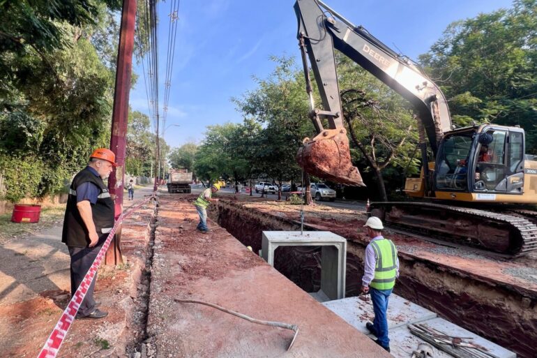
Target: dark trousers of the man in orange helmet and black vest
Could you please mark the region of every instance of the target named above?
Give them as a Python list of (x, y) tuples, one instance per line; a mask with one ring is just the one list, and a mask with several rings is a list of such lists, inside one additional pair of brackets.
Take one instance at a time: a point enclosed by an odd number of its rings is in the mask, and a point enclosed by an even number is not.
[[(73, 297), (73, 294), (75, 294), (77, 291), (78, 286), (80, 286), (80, 283), (82, 283), (84, 276), (86, 276), (91, 264), (93, 263), (93, 260), (95, 260), (97, 257), (97, 254), (102, 246), (103, 245), (100, 244), (93, 247), (68, 247), (71, 258), (71, 297)], [(93, 277), (93, 281), (91, 281), (91, 285), (89, 285), (86, 297), (84, 297), (84, 301), (82, 301), (82, 304), (80, 304), (77, 314), (78, 316), (89, 315), (95, 311), (93, 289), (95, 288), (96, 280), (97, 275)]]

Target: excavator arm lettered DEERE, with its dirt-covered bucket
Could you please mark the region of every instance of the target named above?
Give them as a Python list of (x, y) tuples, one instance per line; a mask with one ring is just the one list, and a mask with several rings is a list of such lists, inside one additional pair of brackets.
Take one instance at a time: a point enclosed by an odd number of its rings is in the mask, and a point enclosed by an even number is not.
[[(414, 105), (436, 156), (442, 135), (452, 129), (446, 98), (439, 87), (409, 59), (393, 52), (363, 27), (355, 27), (322, 1), (297, 0), (294, 10), (306, 91), (310, 98), (310, 119), (317, 130), (317, 136), (312, 140), (306, 138), (298, 151), (298, 163), (318, 177), (342, 184), (363, 185), (358, 170), (350, 161), (334, 49)], [(308, 59), (322, 99), (322, 109), (316, 108), (313, 100)], [(322, 125), (325, 118), (328, 121), (326, 129)]]

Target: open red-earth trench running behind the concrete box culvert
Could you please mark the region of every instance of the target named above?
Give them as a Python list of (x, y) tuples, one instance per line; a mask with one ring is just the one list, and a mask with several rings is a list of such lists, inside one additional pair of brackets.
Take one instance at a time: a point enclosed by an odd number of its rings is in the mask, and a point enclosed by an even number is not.
[[(256, 211), (237, 202), (222, 201), (209, 216), (257, 253), (262, 231), (300, 230), (300, 224), (284, 216)], [(305, 225), (305, 230), (317, 230)], [(336, 232), (337, 234), (338, 232)], [(356, 296), (363, 276), (365, 244), (347, 239), (346, 297)], [(436, 312), (446, 320), (473, 331), (520, 357), (537, 357), (537, 292), (516, 285), (488, 281), (464, 269), (448, 269), (434, 262), (399, 254), (400, 278), (394, 292)], [(300, 288), (320, 287), (319, 248), (277, 249), (274, 266)]]

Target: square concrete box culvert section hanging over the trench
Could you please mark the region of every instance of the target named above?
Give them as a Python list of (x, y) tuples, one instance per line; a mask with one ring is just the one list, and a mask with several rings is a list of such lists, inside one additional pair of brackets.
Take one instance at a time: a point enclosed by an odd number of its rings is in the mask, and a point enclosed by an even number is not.
[[(279, 246), (322, 246), (320, 291), (328, 299), (345, 297), (347, 239), (329, 231), (264, 231), (262, 258), (271, 266)], [(316, 299), (321, 297), (318, 295)]]

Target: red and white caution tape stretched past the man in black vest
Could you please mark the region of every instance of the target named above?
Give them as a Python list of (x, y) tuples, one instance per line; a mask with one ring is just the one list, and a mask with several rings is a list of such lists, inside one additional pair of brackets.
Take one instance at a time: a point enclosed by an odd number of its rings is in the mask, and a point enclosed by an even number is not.
[(60, 350), (61, 343), (63, 343), (63, 340), (67, 336), (67, 331), (69, 330), (71, 325), (73, 325), (73, 321), (75, 320), (75, 316), (77, 315), (78, 308), (80, 308), (80, 304), (82, 304), (84, 297), (86, 297), (86, 292), (88, 292), (89, 285), (91, 285), (91, 281), (93, 281), (93, 277), (95, 277), (97, 273), (97, 269), (99, 268), (100, 262), (103, 261), (108, 246), (110, 246), (110, 242), (112, 242), (112, 238), (114, 237), (116, 228), (123, 221), (124, 218), (126, 218), (130, 214), (133, 214), (134, 211), (139, 209), (139, 207), (142, 207), (143, 204), (151, 200), (151, 198), (153, 197), (155, 197), (154, 193), (150, 197), (147, 197), (146, 200), (144, 200), (137, 206), (128, 210), (126, 213), (121, 214), (121, 216), (119, 216), (119, 218), (116, 220), (116, 222), (114, 223), (114, 228), (112, 228), (112, 231), (110, 231), (108, 237), (106, 238), (105, 244), (103, 244), (103, 247), (100, 248), (96, 259), (93, 261), (93, 264), (91, 264), (91, 267), (89, 268), (86, 276), (84, 276), (82, 283), (80, 283), (80, 286), (78, 286), (77, 291), (75, 292), (75, 294), (73, 294), (73, 298), (71, 298), (65, 311), (63, 311), (63, 313), (61, 314), (60, 319), (56, 323), (56, 327), (54, 327), (52, 333), (47, 339), (47, 342), (45, 343), (45, 345), (43, 345), (41, 352), (39, 352), (38, 358), (56, 357)]

